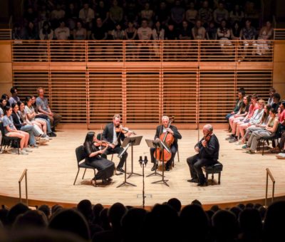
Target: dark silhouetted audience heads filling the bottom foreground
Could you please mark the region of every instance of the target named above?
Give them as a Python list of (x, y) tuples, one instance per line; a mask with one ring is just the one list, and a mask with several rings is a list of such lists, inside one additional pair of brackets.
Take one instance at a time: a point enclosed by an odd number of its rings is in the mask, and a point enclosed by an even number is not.
[(214, 205), (204, 211), (198, 200), (182, 208), (178, 199), (155, 204), (151, 211), (117, 202), (104, 208), (82, 200), (76, 208), (24, 204), (0, 209), (1, 241), (282, 241), (285, 201)]

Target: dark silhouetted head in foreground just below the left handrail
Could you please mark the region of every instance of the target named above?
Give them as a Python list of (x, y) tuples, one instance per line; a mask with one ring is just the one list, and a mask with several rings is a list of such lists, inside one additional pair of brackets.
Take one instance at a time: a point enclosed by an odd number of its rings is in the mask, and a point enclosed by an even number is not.
[(48, 219), (46, 218), (46, 214), (43, 214), (42, 211), (30, 210), (26, 211), (25, 214), (17, 216), (13, 224), (13, 230), (17, 231), (31, 227), (46, 228), (47, 226)]

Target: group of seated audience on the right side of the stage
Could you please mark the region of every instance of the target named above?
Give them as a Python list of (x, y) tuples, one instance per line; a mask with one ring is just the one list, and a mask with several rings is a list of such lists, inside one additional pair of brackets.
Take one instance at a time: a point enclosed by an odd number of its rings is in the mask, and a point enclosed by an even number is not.
[(269, 90), (267, 102), (259, 99), (256, 93), (246, 95), (244, 88), (241, 88), (234, 110), (226, 116), (231, 132), (226, 140), (242, 144), (242, 149), (254, 154), (260, 138), (274, 136), (279, 132), (279, 145), (269, 151), (281, 152), (277, 157), (285, 159), (285, 100), (280, 102), (280, 99), (274, 88)]

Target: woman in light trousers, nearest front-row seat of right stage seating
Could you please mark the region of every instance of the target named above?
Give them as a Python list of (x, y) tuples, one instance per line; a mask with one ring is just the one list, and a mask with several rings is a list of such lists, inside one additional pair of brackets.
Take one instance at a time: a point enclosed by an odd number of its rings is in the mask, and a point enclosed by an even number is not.
[[(279, 125), (278, 118), (276, 117), (276, 110), (271, 108), (269, 111), (270, 119), (265, 127), (265, 130), (257, 130), (252, 132), (252, 135), (249, 137), (249, 141), (247, 142), (247, 147), (249, 150), (247, 151), (248, 154), (254, 154), (255, 150), (257, 149), (258, 141), (261, 137), (269, 137), (274, 135)], [(245, 148), (247, 148), (245, 147)]]

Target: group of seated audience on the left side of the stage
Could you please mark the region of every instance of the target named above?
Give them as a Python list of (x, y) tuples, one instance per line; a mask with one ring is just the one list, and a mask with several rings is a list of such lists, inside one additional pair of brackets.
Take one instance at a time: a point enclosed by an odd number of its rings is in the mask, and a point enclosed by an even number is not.
[[(56, 137), (56, 125), (61, 121), (61, 115), (51, 112), (43, 88), (38, 88), (37, 98), (27, 96), (24, 102), (20, 100), (16, 87), (10, 92), (10, 98), (3, 94), (0, 100), (0, 122), (4, 127), (1, 135), (19, 137), (20, 154), (28, 154), (32, 152), (30, 148), (38, 147), (37, 142), (43, 144)], [(16, 153), (17, 150), (9, 152)]]

